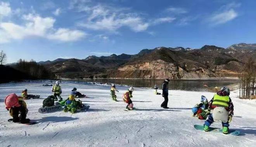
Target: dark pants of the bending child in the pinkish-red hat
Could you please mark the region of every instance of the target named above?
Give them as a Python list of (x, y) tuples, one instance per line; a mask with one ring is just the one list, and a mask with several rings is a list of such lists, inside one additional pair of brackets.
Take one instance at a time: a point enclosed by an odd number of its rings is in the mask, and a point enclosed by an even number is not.
[[(20, 118), (19, 118), (19, 113), (21, 114)], [(24, 108), (23, 106), (19, 106), (19, 107), (14, 106), (14, 108), (10, 108), (10, 116), (13, 117), (13, 122), (25, 121), (27, 113), (28, 113), (27, 109)]]

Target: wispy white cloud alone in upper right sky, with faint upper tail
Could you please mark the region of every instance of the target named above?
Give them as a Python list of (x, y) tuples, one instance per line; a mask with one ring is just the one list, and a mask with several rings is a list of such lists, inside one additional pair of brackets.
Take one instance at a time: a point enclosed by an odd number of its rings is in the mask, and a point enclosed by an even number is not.
[(240, 3), (234, 2), (223, 5), (218, 12), (209, 17), (209, 22), (212, 23), (211, 25), (218, 25), (235, 19), (238, 16), (238, 13), (234, 9), (240, 7), (240, 5)]

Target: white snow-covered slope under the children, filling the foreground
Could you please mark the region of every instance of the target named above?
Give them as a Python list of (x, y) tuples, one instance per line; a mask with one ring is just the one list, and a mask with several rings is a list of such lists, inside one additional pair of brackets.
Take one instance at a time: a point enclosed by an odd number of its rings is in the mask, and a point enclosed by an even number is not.
[[(169, 91), (168, 106), (162, 109), (161, 95), (152, 89), (136, 88), (133, 104), (137, 109), (124, 111), (126, 103), (121, 99), (128, 87), (117, 87), (119, 102), (112, 102), (106, 85), (62, 83), (62, 97), (66, 98), (73, 87), (90, 98), (81, 98), (90, 105), (85, 112), (75, 114), (57, 111), (40, 114), (43, 98), (51, 95), (51, 87), (41, 82), (0, 84), (0, 146), (1, 147), (255, 147), (256, 101), (236, 98), (231, 92), (235, 111), (231, 129), (241, 131), (240, 136), (195, 130), (194, 124), (204, 120), (192, 117), (191, 108), (199, 103), (201, 95), (211, 99), (211, 92)], [(10, 93), (39, 94), (41, 99), (25, 100), (28, 118), (36, 125), (10, 123), (4, 98)], [(221, 127), (216, 122), (213, 127)]]

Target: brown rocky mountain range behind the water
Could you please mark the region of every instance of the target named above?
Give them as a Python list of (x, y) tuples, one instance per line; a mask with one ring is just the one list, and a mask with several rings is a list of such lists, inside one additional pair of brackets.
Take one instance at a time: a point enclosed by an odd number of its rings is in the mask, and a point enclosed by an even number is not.
[(249, 56), (256, 59), (256, 44), (239, 43), (226, 49), (210, 45), (200, 49), (158, 47), (135, 55), (59, 58), (38, 63), (62, 78), (180, 79), (236, 76)]

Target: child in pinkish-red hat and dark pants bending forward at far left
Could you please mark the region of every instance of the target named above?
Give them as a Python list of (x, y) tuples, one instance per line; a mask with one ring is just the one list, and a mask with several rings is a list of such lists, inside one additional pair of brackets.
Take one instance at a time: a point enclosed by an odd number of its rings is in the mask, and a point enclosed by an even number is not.
[(12, 116), (12, 121), (14, 123), (29, 123), (30, 120), (26, 118), (28, 113), (27, 105), (22, 100), (22, 97), (18, 97), (14, 93), (9, 94), (5, 97), (5, 106), (5, 108), (10, 112), (10, 116)]

